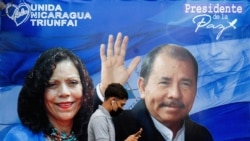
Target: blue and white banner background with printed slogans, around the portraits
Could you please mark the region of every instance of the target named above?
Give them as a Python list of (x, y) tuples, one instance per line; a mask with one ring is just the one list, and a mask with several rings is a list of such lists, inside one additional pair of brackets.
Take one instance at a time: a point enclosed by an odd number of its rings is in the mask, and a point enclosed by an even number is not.
[[(199, 64), (190, 117), (217, 141), (250, 139), (249, 0), (3, 0), (0, 19), (0, 130), (19, 123), (17, 97), (38, 56), (53, 47), (75, 52), (95, 85), (101, 43), (129, 37), (126, 63), (161, 44), (178, 44)], [(0, 6), (2, 7), (2, 6)], [(126, 88), (140, 99), (140, 64)], [(1, 132), (1, 131), (0, 131)]]

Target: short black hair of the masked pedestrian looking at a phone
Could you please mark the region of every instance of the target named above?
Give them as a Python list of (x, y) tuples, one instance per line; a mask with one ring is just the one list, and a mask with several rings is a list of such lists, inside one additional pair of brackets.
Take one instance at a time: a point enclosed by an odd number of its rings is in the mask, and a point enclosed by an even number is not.
[(111, 83), (105, 90), (104, 99), (107, 100), (110, 97), (116, 97), (118, 99), (128, 99), (128, 92), (121, 84)]

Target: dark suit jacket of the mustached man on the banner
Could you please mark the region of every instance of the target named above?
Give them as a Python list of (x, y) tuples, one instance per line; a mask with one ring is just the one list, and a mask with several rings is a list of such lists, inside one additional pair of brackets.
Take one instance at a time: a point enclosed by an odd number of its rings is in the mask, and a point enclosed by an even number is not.
[[(95, 93), (95, 108), (102, 102)], [(113, 118), (115, 125), (116, 141), (124, 141), (129, 135), (143, 129), (139, 141), (165, 141), (160, 132), (155, 128), (149, 115), (144, 100), (140, 100), (132, 110), (125, 110)], [(185, 141), (213, 141), (210, 132), (203, 126), (185, 119)]]

